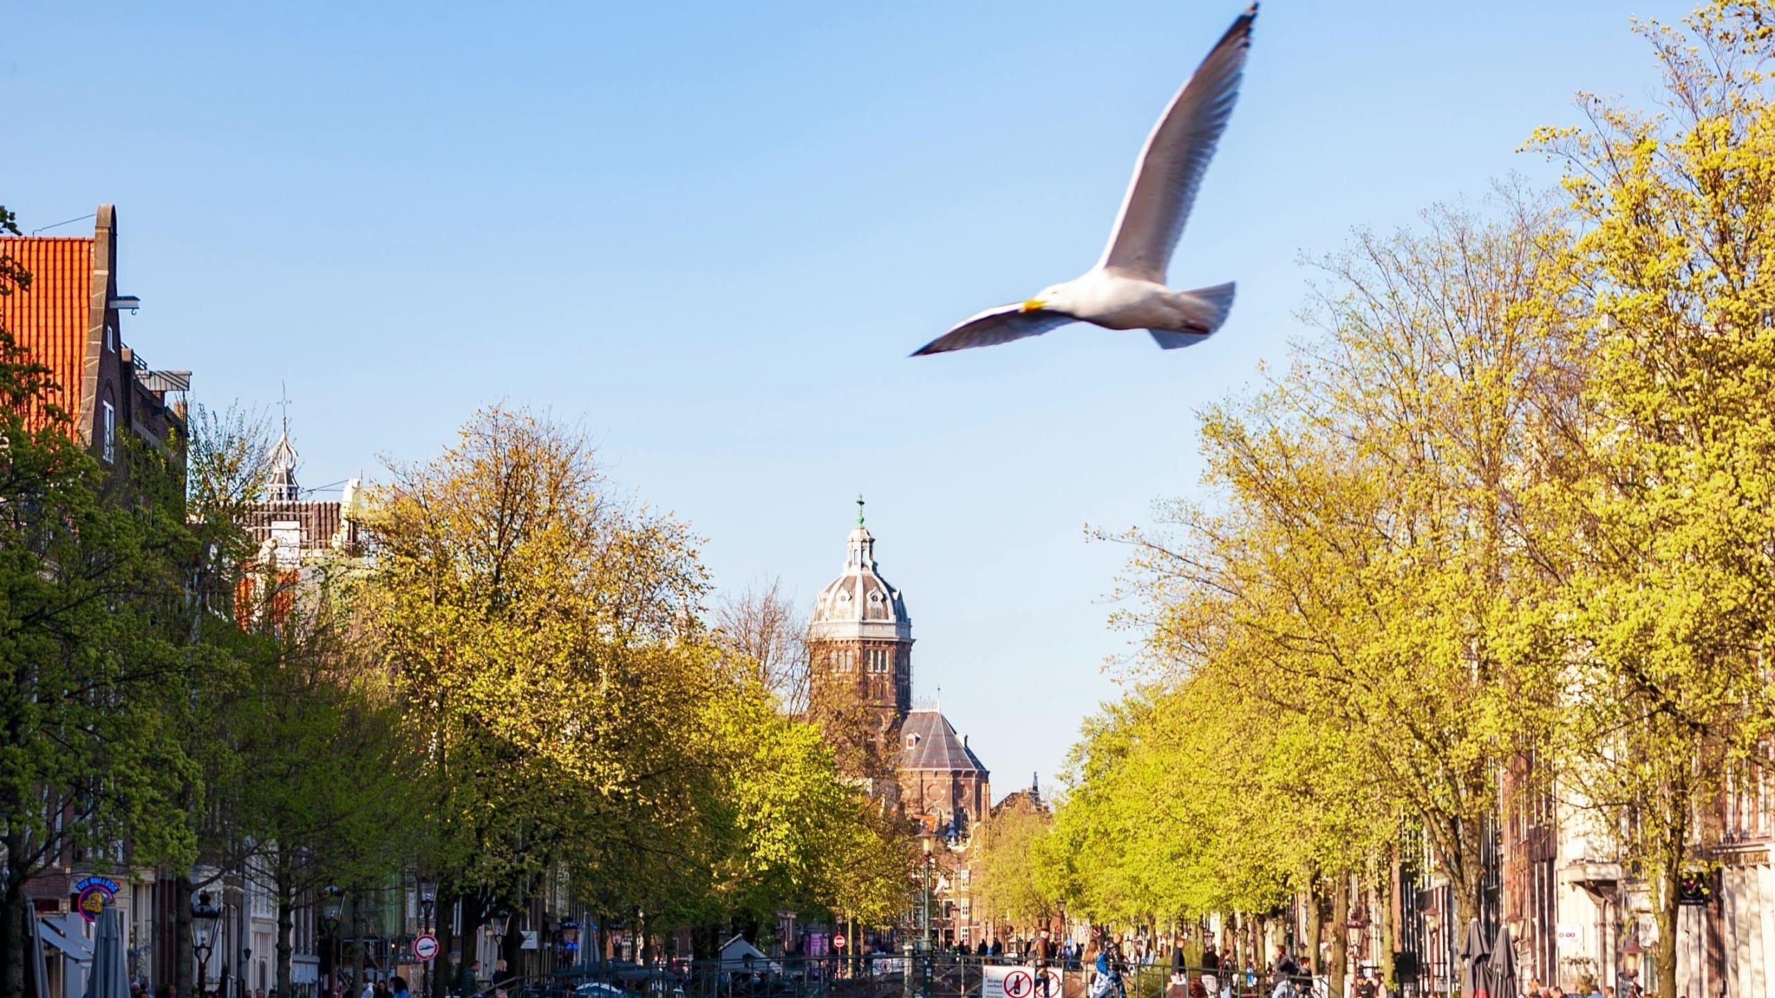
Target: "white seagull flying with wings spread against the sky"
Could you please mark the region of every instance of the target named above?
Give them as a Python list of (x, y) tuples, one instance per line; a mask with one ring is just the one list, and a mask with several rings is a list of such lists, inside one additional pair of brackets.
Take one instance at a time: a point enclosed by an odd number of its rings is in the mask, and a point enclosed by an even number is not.
[(1010, 343), (1070, 321), (1145, 329), (1166, 350), (1202, 343), (1219, 329), (1232, 309), (1234, 286), (1172, 291), (1164, 286), (1164, 272), (1239, 98), (1255, 20), (1257, 4), (1251, 4), (1152, 126), (1097, 266), (1026, 302), (987, 309), (912, 355)]

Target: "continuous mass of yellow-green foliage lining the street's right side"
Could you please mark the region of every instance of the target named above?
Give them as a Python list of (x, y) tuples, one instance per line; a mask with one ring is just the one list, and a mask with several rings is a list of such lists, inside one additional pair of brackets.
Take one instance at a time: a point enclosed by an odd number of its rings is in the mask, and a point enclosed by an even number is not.
[(1567, 197), (1358, 233), (1289, 371), (1202, 414), (1209, 499), (1125, 535), (1145, 685), (1086, 728), (1058, 893), (1262, 909), (1406, 820), (1464, 918), (1484, 824), (1557, 787), (1674, 945), (1697, 815), (1770, 756), (1775, 5), (1640, 32), (1661, 110), (1530, 142)]

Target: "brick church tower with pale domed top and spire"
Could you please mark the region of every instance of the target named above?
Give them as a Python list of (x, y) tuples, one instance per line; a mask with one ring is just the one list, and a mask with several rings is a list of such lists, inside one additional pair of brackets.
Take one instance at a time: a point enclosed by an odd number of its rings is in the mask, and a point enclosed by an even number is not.
[(809, 693), (815, 703), (854, 696), (886, 742), (912, 709), (912, 618), (880, 575), (861, 495), (845, 549), (845, 570), (815, 598), (808, 623)]

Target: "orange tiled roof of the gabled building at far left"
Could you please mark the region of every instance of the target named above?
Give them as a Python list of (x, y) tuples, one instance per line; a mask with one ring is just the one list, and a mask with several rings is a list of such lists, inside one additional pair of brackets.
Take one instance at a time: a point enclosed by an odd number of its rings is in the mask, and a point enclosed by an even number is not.
[(60, 387), (57, 401), (80, 424), (92, 309), (92, 238), (25, 236), (0, 240), (4, 252), (30, 272), (30, 289), (0, 297), (0, 323)]

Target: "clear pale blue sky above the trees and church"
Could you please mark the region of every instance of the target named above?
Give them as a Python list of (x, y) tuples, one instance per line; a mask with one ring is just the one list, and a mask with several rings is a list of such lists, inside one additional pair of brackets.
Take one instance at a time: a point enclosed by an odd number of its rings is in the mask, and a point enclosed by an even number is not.
[[(1301, 254), (1482, 195), (1589, 89), (1653, 98), (1628, 16), (1690, 4), (1271, 0), (1173, 259), (1212, 341), (1072, 327), (941, 357), (1090, 266), (1147, 130), (1239, 0), (53, 4), (0, 43), (0, 202), (115, 202), (124, 339), (193, 398), (288, 382), (302, 479), (550, 410), (806, 607), (859, 492), (919, 698), (996, 794), (1116, 694), (1127, 527), (1196, 488), (1193, 412), (1282, 360)], [(91, 233), (91, 220), (55, 233)]]

